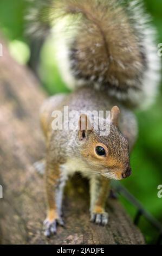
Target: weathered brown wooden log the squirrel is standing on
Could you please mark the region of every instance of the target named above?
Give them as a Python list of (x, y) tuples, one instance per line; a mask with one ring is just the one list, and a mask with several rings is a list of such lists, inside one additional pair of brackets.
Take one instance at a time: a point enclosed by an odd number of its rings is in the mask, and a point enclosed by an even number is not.
[[(0, 42), (2, 42), (0, 40)], [(44, 154), (38, 111), (44, 93), (36, 78), (18, 65), (3, 44), (0, 57), (0, 243), (2, 244), (141, 244), (144, 238), (117, 200), (109, 200), (109, 224), (89, 222), (89, 198), (77, 176), (64, 197), (66, 228), (43, 236), (46, 217), (43, 178), (33, 163)], [(85, 184), (85, 182), (84, 182)]]

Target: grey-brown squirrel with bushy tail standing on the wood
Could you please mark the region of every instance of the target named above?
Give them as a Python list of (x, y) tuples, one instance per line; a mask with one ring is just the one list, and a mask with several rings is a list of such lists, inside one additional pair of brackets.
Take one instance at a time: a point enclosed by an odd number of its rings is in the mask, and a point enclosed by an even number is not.
[[(62, 197), (68, 176), (89, 179), (90, 220), (106, 225), (105, 204), (110, 180), (131, 175), (129, 154), (138, 136), (135, 108), (148, 106), (157, 94), (160, 63), (155, 29), (141, 1), (46, 0), (31, 11), (32, 29), (47, 35), (51, 28), (61, 75), (71, 94), (47, 99), (41, 108), (46, 138), (45, 170), (48, 212), (44, 234), (63, 225)], [(31, 15), (32, 16), (32, 15)], [(42, 31), (40, 30), (42, 29)], [(53, 111), (79, 112), (78, 129), (55, 130)], [(102, 136), (82, 111), (110, 110), (109, 134)], [(96, 117), (95, 117), (96, 118)]]

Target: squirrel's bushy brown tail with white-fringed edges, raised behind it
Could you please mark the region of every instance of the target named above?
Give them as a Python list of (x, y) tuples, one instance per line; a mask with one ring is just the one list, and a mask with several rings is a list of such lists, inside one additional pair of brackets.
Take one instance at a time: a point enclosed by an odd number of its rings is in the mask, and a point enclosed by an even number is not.
[(71, 88), (106, 89), (130, 106), (152, 102), (160, 60), (141, 1), (46, 0), (35, 24), (51, 25), (62, 77)]

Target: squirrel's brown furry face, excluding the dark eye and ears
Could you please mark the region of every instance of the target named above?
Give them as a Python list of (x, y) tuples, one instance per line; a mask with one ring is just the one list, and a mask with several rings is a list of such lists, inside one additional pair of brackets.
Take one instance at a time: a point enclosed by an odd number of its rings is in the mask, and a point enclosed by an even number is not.
[[(102, 175), (117, 180), (126, 178), (131, 174), (128, 142), (118, 130), (111, 124), (111, 132), (108, 136), (100, 136), (92, 130), (87, 133), (81, 149), (81, 155), (92, 167), (98, 169)], [(106, 151), (106, 156), (96, 154), (96, 147), (101, 146)]]

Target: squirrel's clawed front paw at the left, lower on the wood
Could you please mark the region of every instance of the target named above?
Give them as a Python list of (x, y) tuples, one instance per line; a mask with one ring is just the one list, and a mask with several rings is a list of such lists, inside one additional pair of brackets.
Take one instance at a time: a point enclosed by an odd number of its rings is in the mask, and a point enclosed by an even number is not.
[(53, 221), (50, 221), (48, 218), (43, 222), (44, 225), (44, 235), (47, 237), (50, 237), (51, 235), (54, 235), (57, 233), (57, 224), (64, 226), (64, 222), (62, 218), (54, 219)]

